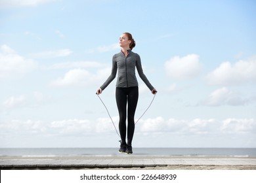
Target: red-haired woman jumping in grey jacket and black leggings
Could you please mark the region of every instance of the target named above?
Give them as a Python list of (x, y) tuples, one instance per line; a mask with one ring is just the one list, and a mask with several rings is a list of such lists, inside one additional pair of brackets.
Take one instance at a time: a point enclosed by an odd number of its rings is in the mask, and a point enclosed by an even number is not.
[[(133, 133), (135, 131), (135, 110), (137, 107), (139, 88), (137, 78), (135, 76), (135, 67), (139, 73), (140, 78), (144, 81), (146, 86), (153, 94), (156, 94), (156, 89), (150, 84), (142, 71), (139, 54), (135, 54), (131, 50), (135, 47), (135, 41), (130, 33), (123, 33), (119, 37), (119, 45), (121, 52), (115, 54), (112, 59), (112, 71), (106, 82), (100, 86), (97, 91), (99, 95), (102, 91), (114, 80), (118, 70), (116, 83), (116, 103), (119, 112), (119, 133), (121, 136), (121, 145), (119, 152), (126, 152), (132, 154), (133, 149), (131, 142), (133, 141)], [(128, 110), (126, 106), (128, 103)], [(128, 117), (127, 117), (128, 116)], [(126, 140), (126, 117), (128, 120), (127, 126), (127, 142)]]

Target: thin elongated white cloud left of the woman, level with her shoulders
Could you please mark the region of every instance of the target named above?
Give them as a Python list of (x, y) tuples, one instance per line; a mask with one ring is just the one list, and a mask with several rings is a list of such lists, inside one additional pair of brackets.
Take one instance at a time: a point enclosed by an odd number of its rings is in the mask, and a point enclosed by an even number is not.
[(33, 58), (59, 58), (66, 57), (72, 54), (72, 50), (70, 49), (62, 49), (62, 50), (51, 50), (47, 52), (39, 52), (36, 54), (31, 54)]

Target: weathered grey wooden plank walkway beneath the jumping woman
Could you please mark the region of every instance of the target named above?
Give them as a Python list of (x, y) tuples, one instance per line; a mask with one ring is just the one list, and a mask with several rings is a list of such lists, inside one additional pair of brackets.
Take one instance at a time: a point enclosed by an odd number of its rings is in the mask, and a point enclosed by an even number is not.
[(254, 165), (255, 158), (89, 158), (0, 159), (0, 168), (33, 167), (165, 167), (168, 165)]

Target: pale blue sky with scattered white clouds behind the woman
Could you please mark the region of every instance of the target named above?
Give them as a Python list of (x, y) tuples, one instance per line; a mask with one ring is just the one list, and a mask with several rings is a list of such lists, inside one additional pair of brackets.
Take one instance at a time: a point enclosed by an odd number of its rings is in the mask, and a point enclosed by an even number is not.
[[(133, 147), (256, 148), (256, 1), (0, 0), (0, 148), (119, 146), (96, 90), (133, 35), (158, 90)], [(154, 95), (137, 75), (135, 121)], [(100, 95), (118, 126), (116, 79)]]

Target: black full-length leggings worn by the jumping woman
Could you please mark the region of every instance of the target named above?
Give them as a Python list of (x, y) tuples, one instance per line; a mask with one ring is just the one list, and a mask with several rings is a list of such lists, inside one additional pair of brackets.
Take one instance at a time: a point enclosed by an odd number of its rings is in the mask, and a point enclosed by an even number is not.
[(135, 110), (139, 98), (138, 86), (129, 88), (116, 88), (116, 104), (119, 112), (119, 132), (121, 141), (125, 141), (126, 137), (126, 106), (128, 102), (128, 127), (127, 127), (127, 144), (131, 145), (133, 134), (135, 131)]

